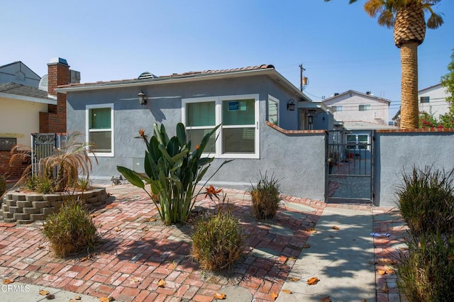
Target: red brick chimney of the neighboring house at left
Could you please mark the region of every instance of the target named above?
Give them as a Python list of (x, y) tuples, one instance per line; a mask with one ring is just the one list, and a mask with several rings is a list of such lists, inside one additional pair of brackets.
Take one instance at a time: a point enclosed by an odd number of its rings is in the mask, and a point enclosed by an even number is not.
[(70, 65), (56, 57), (48, 63), (48, 94), (57, 105), (48, 105), (48, 112), (40, 112), (40, 133), (66, 133), (66, 94), (57, 93), (58, 85), (70, 84)]

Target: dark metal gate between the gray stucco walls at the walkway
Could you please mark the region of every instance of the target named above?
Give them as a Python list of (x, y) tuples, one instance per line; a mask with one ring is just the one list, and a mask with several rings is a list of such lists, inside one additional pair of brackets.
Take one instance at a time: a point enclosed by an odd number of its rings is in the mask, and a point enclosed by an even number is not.
[(373, 130), (328, 131), (328, 201), (372, 201), (374, 137)]

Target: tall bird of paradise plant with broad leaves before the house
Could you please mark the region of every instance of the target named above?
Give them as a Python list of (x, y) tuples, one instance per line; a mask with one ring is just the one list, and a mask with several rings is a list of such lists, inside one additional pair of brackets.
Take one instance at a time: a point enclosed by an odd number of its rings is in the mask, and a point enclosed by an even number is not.
[[(117, 166), (118, 172), (123, 174), (123, 177), (150, 196), (160, 218), (167, 225), (184, 223), (189, 217), (194, 207), (194, 196), (197, 195), (194, 195), (196, 184), (201, 181), (214, 160), (214, 157), (201, 157), (201, 155), (211, 135), (214, 135), (218, 128), (219, 125), (206, 133), (195, 150), (190, 151), (191, 141), (187, 141), (186, 130), (182, 123), (177, 124), (177, 135), (172, 138), (168, 137), (164, 125), (158, 128), (155, 123), (150, 140), (147, 140), (143, 133), (141, 134), (147, 147), (145, 174)], [(227, 162), (230, 160), (226, 160), (223, 164)], [(145, 184), (150, 185), (151, 193), (145, 188)], [(159, 196), (159, 205), (152, 194)]]

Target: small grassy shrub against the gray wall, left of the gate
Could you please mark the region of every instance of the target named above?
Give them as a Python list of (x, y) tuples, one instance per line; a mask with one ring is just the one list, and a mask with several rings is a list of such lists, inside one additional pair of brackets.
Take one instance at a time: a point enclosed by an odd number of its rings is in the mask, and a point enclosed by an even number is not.
[(253, 203), (253, 214), (257, 219), (274, 218), (279, 208), (279, 181), (274, 174), (268, 178), (267, 173), (262, 175), (256, 186), (249, 189)]

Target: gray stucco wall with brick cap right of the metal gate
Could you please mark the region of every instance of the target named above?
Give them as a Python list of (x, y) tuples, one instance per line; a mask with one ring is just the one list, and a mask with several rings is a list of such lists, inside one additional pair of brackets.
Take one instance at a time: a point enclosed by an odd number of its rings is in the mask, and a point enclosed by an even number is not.
[(402, 173), (414, 165), (454, 169), (454, 133), (377, 133), (375, 140), (375, 204), (396, 206)]

